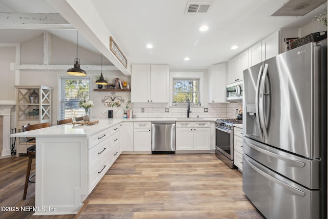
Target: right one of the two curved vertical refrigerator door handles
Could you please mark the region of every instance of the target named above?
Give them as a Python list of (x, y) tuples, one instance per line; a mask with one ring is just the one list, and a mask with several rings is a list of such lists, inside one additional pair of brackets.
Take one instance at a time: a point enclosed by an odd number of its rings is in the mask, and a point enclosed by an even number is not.
[(267, 75), (268, 75), (268, 64), (264, 65), (264, 69), (263, 69), (263, 74), (262, 74), (262, 78), (261, 78), (261, 83), (260, 83), (260, 87), (259, 87), (259, 100), (258, 100), (258, 108), (259, 108), (259, 117), (260, 117), (260, 123), (261, 123), (261, 127), (262, 127), (262, 132), (264, 135), (264, 141), (267, 141), (268, 139), (268, 127), (267, 124), (265, 124), (265, 105), (264, 105), (264, 96), (268, 95), (265, 94), (265, 79), (267, 79)]

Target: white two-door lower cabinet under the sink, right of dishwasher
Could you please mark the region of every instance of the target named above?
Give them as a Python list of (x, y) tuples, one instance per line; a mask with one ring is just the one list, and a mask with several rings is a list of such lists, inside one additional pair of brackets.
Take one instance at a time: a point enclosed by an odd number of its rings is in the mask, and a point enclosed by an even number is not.
[(210, 122), (176, 122), (175, 144), (177, 151), (210, 150)]

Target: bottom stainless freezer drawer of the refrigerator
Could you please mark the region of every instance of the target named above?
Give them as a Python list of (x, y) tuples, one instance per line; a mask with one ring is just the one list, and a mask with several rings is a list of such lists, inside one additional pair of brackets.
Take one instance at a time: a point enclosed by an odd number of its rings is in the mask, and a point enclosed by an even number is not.
[(320, 191), (302, 187), (243, 155), (242, 190), (267, 218), (319, 218)]

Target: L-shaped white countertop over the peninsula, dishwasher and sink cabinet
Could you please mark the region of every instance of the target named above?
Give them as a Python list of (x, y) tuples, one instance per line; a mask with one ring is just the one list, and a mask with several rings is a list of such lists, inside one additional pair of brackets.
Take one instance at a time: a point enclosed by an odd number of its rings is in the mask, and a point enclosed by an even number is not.
[(151, 122), (151, 121), (197, 121), (215, 122), (217, 118), (92, 118), (91, 121), (99, 121), (95, 125), (75, 125), (71, 123), (59, 126), (51, 126), (26, 132), (11, 134), (11, 137), (83, 137), (97, 133), (101, 130), (115, 126), (121, 122)]

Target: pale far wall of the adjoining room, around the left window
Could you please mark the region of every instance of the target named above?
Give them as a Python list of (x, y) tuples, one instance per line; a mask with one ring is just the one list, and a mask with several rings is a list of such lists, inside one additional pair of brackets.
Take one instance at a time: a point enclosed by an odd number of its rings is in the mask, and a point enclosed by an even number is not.
[[(18, 78), (15, 78), (15, 71), (10, 70), (10, 63), (15, 63), (15, 47), (3, 47), (0, 45), (0, 67), (2, 69), (0, 80), (0, 99), (14, 100), (15, 96), (15, 80), (17, 85), (46, 85), (53, 88), (52, 90), (52, 124), (56, 124), (58, 116), (58, 75), (66, 75), (66, 70), (19, 70)], [(101, 65), (101, 54), (93, 53), (84, 48), (78, 48), (78, 57), (80, 58), (81, 68), (83, 65)], [(76, 44), (71, 44), (55, 36), (51, 36), (51, 59), (50, 65), (74, 65), (76, 58)], [(19, 60), (19, 59), (18, 59)], [(20, 44), (20, 63), (17, 64), (43, 64), (43, 34), (33, 38), (31, 41)], [(103, 65), (112, 65), (107, 58), (103, 57)], [(95, 104), (91, 110), (91, 119), (107, 117), (107, 111), (112, 108), (105, 107), (101, 103), (106, 95), (111, 92), (94, 92), (97, 88), (95, 85), (95, 75), (100, 74), (100, 70), (89, 70), (87, 74), (90, 76), (90, 98)], [(103, 70), (105, 78), (109, 79), (109, 83), (114, 83), (114, 78), (118, 77), (121, 81), (127, 81), (131, 86), (131, 77), (127, 77), (120, 71)], [(116, 92), (116, 95), (121, 95), (126, 101), (131, 99), (130, 92)], [(132, 106), (132, 105), (131, 105)], [(103, 111), (106, 111), (105, 115)], [(116, 111), (117, 109), (113, 109)], [(122, 111), (114, 114), (115, 117), (121, 117)], [(15, 111), (12, 113), (15, 120)], [(15, 121), (12, 123), (14, 128)]]

